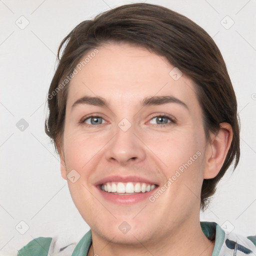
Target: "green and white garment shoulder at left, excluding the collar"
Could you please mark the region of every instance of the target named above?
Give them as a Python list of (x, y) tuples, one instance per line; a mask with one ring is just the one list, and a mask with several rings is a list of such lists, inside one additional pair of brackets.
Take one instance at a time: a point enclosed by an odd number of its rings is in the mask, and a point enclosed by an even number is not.
[(63, 244), (61, 238), (55, 237), (37, 237), (28, 242), (18, 250), (18, 256), (65, 256), (71, 255), (76, 242)]

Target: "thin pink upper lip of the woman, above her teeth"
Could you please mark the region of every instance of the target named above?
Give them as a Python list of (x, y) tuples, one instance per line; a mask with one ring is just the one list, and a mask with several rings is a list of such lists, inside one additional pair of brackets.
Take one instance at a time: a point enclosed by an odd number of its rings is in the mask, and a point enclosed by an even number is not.
[(118, 176), (118, 175), (113, 175), (113, 176), (107, 176), (104, 177), (100, 180), (98, 180), (94, 185), (101, 185), (106, 182), (144, 182), (144, 183), (149, 183), (149, 184), (156, 184), (155, 181), (151, 181), (149, 179), (139, 177), (139, 176)]

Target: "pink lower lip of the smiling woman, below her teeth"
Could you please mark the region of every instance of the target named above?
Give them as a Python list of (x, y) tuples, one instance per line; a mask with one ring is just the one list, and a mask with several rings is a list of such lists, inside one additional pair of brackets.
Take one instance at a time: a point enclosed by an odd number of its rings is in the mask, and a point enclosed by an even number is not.
[(117, 204), (133, 204), (137, 202), (141, 202), (155, 192), (155, 189), (158, 187), (156, 186), (153, 190), (144, 192), (144, 193), (137, 193), (137, 194), (130, 194), (130, 195), (118, 195), (111, 192), (102, 191), (99, 186), (96, 186), (99, 190), (100, 194), (108, 201), (117, 203)]

